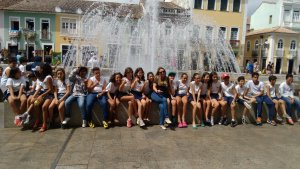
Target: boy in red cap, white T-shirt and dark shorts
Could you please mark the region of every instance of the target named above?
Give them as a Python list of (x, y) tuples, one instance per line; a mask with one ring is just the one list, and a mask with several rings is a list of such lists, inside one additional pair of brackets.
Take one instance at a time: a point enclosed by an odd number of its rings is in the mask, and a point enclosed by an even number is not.
[(226, 107), (230, 105), (231, 110), (231, 127), (237, 126), (237, 121), (235, 120), (235, 87), (234, 84), (229, 81), (230, 76), (228, 73), (222, 74), (223, 82), (221, 82), (221, 89), (223, 94), (223, 100), (220, 102), (221, 104), (221, 124), (227, 125), (226, 118)]

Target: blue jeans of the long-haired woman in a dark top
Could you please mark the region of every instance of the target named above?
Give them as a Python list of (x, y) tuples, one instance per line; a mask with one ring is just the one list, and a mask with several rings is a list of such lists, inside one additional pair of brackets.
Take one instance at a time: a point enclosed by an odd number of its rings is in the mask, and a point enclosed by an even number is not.
[(155, 92), (151, 94), (151, 99), (158, 103), (159, 106), (159, 124), (163, 125), (165, 118), (168, 117), (168, 102), (167, 98)]

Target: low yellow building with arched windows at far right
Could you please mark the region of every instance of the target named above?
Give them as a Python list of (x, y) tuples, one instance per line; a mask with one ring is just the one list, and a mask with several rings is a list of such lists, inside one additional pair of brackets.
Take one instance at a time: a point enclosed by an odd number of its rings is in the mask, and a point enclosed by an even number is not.
[(244, 65), (248, 60), (258, 61), (261, 69), (274, 63), (274, 72), (297, 73), (300, 34), (287, 28), (275, 27), (248, 32)]

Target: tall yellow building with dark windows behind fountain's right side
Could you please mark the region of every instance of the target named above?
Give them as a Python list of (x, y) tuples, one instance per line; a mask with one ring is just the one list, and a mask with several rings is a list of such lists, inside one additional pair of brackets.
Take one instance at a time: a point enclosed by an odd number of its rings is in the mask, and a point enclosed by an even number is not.
[[(174, 2), (174, 1), (173, 1)], [(222, 31), (243, 66), (243, 51), (246, 34), (247, 0), (190, 0), (194, 23), (211, 23), (215, 32)]]

